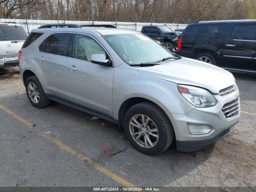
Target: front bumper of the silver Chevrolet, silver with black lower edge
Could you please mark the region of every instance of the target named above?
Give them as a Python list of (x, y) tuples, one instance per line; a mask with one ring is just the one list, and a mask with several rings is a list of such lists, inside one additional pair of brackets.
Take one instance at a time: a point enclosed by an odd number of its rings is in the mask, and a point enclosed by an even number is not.
[[(218, 103), (210, 108), (194, 108), (187, 114), (174, 114), (166, 112), (169, 116), (176, 136), (177, 150), (195, 151), (220, 140), (235, 129), (235, 124), (240, 118), (239, 113), (233, 118), (227, 119), (222, 113), (224, 104), (237, 98), (236, 92), (227, 95), (214, 95)], [(208, 134), (190, 134), (187, 122), (195, 124), (206, 124), (212, 128)]]

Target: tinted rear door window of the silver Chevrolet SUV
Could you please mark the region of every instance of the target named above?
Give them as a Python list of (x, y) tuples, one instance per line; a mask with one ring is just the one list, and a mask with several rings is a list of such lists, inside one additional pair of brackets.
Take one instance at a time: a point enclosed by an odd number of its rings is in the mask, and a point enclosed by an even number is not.
[(39, 51), (68, 56), (71, 33), (56, 33), (50, 35), (39, 46)]

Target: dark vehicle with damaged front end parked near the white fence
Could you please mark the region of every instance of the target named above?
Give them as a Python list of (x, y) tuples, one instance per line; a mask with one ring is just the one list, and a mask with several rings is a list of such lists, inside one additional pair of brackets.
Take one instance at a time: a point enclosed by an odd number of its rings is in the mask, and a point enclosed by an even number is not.
[(177, 40), (180, 35), (180, 32), (174, 32), (166, 26), (143, 26), (141, 32), (153, 40), (163, 43), (164, 48), (169, 51), (177, 47)]

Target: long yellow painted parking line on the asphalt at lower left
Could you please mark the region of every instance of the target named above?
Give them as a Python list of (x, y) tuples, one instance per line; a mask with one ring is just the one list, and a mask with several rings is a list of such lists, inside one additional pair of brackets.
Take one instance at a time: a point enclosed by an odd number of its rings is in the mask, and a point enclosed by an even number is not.
[[(33, 130), (37, 131), (34, 127), (33, 124), (28, 122), (27, 120), (23, 119), (21, 116), (19, 116), (18, 114), (12, 112), (11, 110), (9, 110), (8, 108), (5, 108), (4, 106), (2, 106), (0, 104), (0, 109), (4, 110), (6, 113), (10, 114), (11, 116), (13, 116), (14, 118), (16, 118), (17, 120), (19, 120), (20, 122), (24, 123), (26, 126), (32, 128)], [(78, 151), (70, 148), (69, 146), (65, 145), (64, 143), (58, 141), (56, 138), (54, 138), (51, 135), (48, 134), (44, 134), (43, 131), (37, 131), (39, 134), (41, 134), (42, 136), (44, 136), (45, 138), (47, 138), (48, 140), (52, 141), (53, 143), (57, 144), (60, 148), (64, 149), (65, 151), (69, 152), (70, 154), (76, 156), (77, 158), (79, 158), (80, 160), (87, 162), (90, 166), (92, 166), (94, 169), (102, 172), (103, 174), (105, 174), (106, 176), (112, 178), (113, 180), (115, 180), (116, 182), (120, 183), (122, 186), (126, 186), (126, 187), (135, 187), (133, 184), (131, 184), (130, 182), (126, 181), (125, 179), (123, 179), (122, 177), (118, 176), (117, 174), (111, 172), (110, 170), (104, 168), (103, 166), (93, 162), (92, 160), (90, 160), (89, 158), (87, 158), (86, 156), (83, 156), (82, 154), (80, 154)]]

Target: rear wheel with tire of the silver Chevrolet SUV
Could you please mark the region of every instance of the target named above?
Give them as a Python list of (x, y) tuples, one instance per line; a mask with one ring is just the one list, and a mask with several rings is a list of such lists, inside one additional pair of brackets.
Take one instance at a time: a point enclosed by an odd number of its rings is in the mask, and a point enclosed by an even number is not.
[(46, 98), (42, 85), (36, 76), (30, 76), (26, 80), (26, 92), (28, 100), (36, 108), (44, 108), (50, 104), (50, 100)]

